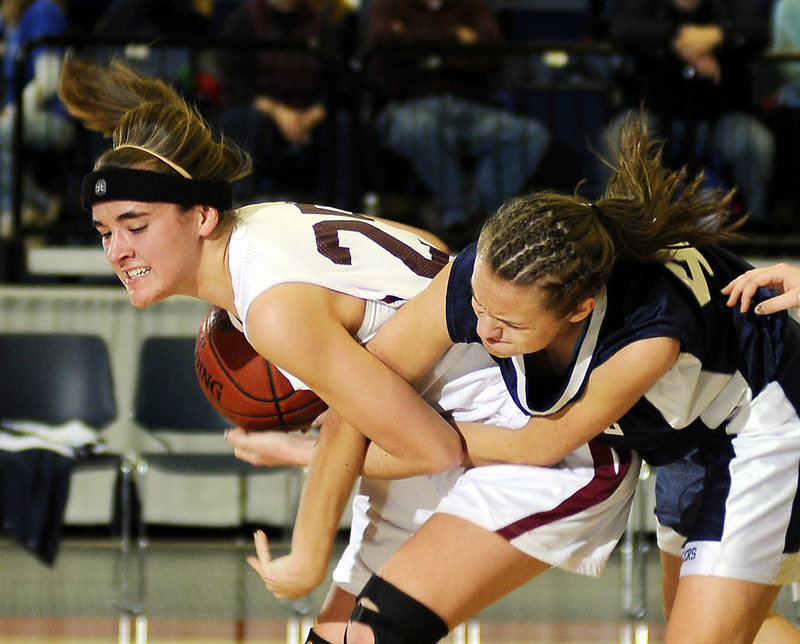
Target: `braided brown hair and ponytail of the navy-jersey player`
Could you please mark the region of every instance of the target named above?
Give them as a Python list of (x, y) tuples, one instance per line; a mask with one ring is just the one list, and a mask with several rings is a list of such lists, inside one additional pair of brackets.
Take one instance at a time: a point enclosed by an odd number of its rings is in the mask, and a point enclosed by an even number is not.
[(687, 180), (685, 169), (665, 168), (661, 150), (644, 121), (632, 116), (599, 200), (552, 191), (514, 198), (484, 225), (480, 258), (501, 279), (535, 282), (551, 310), (568, 314), (619, 262), (664, 262), (679, 245), (734, 236), (741, 221), (726, 224), (733, 192), (707, 188), (702, 175)]

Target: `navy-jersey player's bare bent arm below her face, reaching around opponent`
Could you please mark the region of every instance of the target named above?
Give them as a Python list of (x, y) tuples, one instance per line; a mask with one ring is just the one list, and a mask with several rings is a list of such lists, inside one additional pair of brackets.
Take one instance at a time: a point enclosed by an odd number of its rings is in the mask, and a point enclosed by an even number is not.
[(558, 413), (533, 416), (517, 430), (459, 423), (474, 465), (551, 466), (617, 422), (675, 363), (675, 338), (634, 342), (596, 368), (582, 396)]

